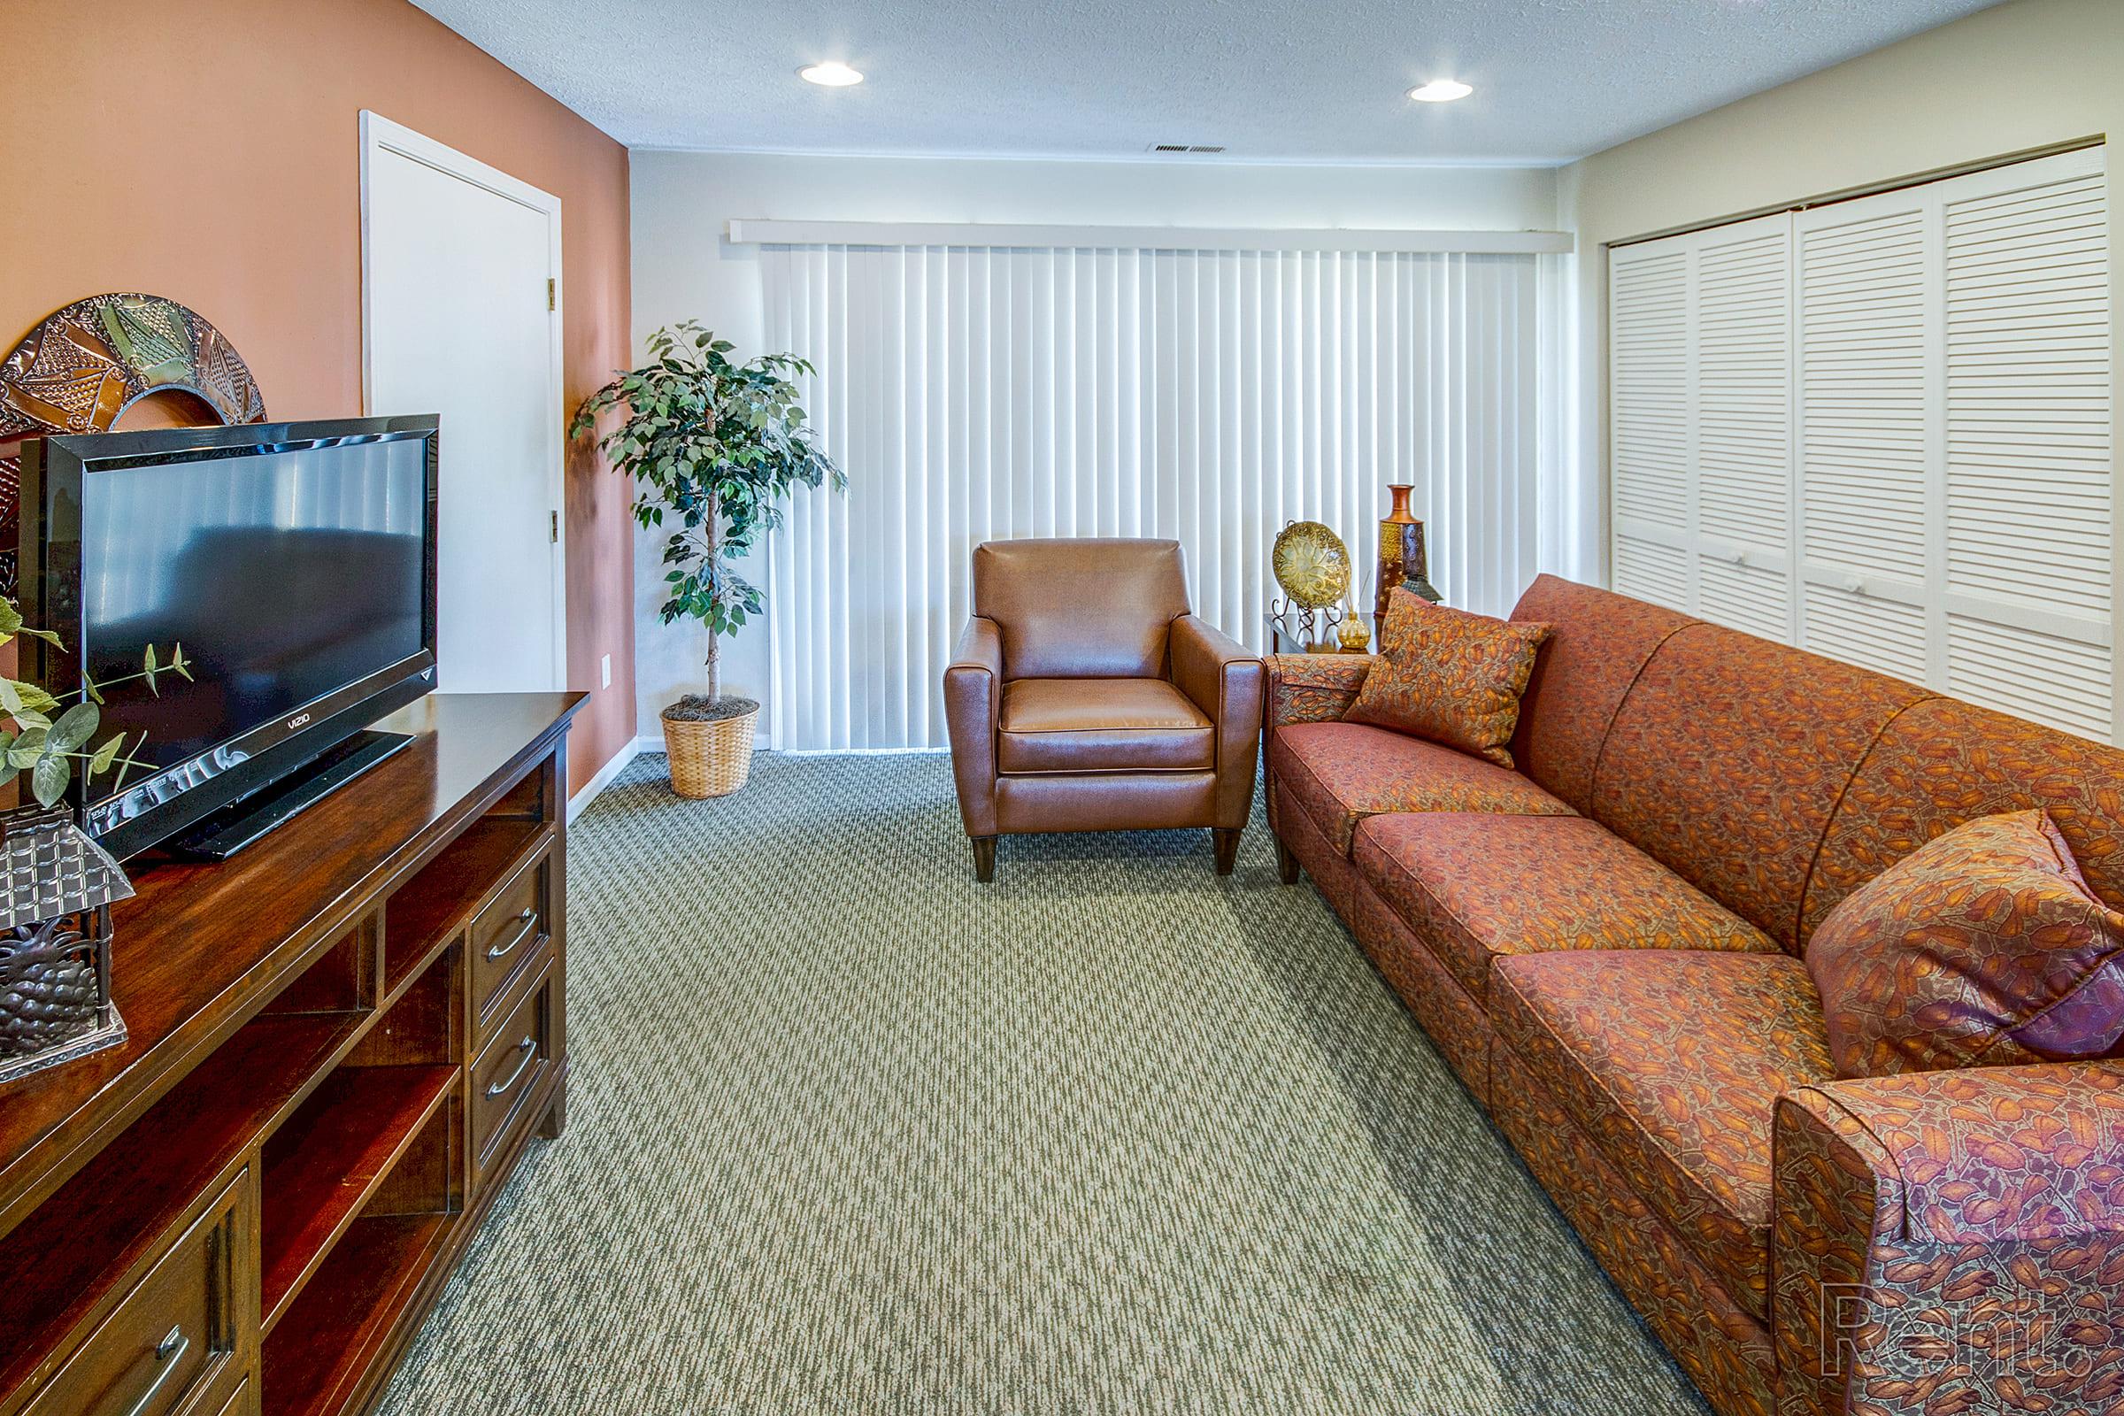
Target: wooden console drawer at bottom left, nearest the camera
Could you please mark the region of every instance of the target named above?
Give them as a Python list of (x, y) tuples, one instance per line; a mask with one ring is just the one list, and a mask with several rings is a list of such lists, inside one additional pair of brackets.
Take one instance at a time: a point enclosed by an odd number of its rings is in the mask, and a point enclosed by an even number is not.
[[(66, 1359), (23, 1416), (166, 1416), (242, 1382), (236, 1255), (255, 1229), (251, 1172), (242, 1172), (185, 1229), (89, 1340)], [(249, 1267), (249, 1265), (244, 1265)]]

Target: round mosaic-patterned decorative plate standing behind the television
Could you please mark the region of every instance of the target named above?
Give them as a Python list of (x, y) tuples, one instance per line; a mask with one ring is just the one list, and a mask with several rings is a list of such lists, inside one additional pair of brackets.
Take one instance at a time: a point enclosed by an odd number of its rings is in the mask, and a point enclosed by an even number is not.
[(151, 393), (178, 391), (223, 425), (263, 422), (251, 365), (204, 318), (161, 295), (91, 295), (0, 361), (0, 594), (15, 594), (23, 437), (104, 433)]

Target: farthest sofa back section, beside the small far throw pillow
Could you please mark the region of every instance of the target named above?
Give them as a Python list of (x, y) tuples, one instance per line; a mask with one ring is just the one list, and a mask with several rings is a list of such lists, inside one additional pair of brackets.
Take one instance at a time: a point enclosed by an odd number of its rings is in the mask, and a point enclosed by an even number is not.
[(1667, 635), (1697, 620), (1555, 575), (1527, 586), (1512, 620), (1548, 624), (1521, 694), (1512, 760), (1574, 811), (1591, 813), (1593, 769), (1614, 711)]

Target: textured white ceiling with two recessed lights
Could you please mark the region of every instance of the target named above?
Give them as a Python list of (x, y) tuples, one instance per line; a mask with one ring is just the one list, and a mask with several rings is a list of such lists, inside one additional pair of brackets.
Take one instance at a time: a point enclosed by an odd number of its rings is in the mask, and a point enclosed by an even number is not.
[(414, 2), (629, 146), (1563, 161), (1997, 0)]

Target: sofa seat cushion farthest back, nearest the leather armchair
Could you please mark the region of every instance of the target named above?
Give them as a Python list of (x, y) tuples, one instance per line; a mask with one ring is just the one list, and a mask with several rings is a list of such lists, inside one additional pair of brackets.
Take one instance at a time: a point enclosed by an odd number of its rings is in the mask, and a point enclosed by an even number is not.
[(1357, 722), (1300, 722), (1268, 747), (1277, 792), (1349, 856), (1357, 822), (1389, 811), (1572, 815), (1519, 773), (1406, 732)]

